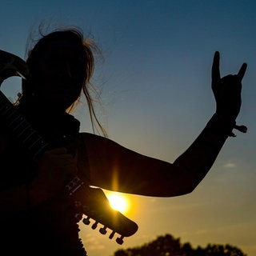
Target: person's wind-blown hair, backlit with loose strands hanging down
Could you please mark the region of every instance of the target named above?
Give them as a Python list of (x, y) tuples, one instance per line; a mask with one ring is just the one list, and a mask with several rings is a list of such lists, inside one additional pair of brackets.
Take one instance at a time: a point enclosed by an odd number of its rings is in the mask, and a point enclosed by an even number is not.
[[(81, 44), (83, 50), (84, 50), (84, 58), (86, 59), (86, 69), (85, 69), (85, 76), (84, 81), (82, 84), (82, 93), (86, 97), (86, 102), (89, 109), (90, 114), (90, 121), (92, 124), (92, 128), (95, 131), (99, 130), (102, 132), (104, 136), (106, 136), (106, 130), (102, 127), (101, 123), (98, 121), (98, 118), (95, 114), (94, 110), (94, 98), (91, 96), (90, 90), (93, 90), (94, 93), (96, 90), (94, 89), (94, 86), (90, 83), (90, 78), (93, 75), (94, 72), (94, 53), (99, 53), (98, 46), (94, 43), (92, 39), (86, 39), (84, 38), (82, 31), (78, 29), (77, 27), (67, 28), (67, 29), (58, 29), (54, 30), (50, 34), (43, 34), (42, 31), (40, 31), (40, 38), (37, 42), (35, 42), (34, 46), (27, 50), (27, 59), (26, 62), (28, 66), (33, 69), (33, 63), (36, 62), (36, 59), (38, 58), (38, 55), (42, 53), (42, 50), (46, 47), (46, 45), (49, 42), (52, 42), (54, 40), (67, 40), (72, 42), (77, 42), (78, 44)], [(18, 103), (22, 102), (24, 98), (30, 97), (31, 94), (33, 94), (33, 88), (31, 88), (32, 85), (30, 85), (26, 80), (22, 81), (22, 94), (18, 98)], [(79, 102), (80, 97), (76, 102), (70, 106), (70, 108), (67, 110), (67, 112), (70, 112), (71, 110), (74, 110)]]

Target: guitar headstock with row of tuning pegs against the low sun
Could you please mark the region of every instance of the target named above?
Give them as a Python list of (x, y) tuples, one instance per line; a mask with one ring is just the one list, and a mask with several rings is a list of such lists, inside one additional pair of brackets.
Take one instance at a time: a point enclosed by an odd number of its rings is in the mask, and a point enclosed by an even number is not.
[(109, 229), (111, 231), (110, 239), (114, 238), (115, 234), (119, 234), (120, 237), (115, 240), (118, 244), (123, 243), (123, 238), (137, 232), (138, 225), (118, 210), (114, 210), (102, 189), (87, 186), (80, 178), (75, 177), (66, 186), (66, 190), (74, 198), (75, 206), (79, 209), (78, 212), (86, 215), (82, 222), (88, 226), (91, 224), (93, 230), (102, 225), (99, 232), (106, 234)]

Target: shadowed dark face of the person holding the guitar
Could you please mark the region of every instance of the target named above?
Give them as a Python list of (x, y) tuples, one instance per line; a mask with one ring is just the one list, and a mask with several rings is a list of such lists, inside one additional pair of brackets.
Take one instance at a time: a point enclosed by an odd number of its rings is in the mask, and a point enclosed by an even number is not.
[(66, 110), (78, 99), (86, 75), (82, 45), (61, 40), (49, 42), (32, 75), (37, 98)]

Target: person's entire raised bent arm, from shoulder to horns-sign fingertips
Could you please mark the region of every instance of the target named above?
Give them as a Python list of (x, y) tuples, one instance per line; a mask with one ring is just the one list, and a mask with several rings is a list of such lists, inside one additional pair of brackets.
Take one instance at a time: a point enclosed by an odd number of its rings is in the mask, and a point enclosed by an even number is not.
[(245, 72), (244, 63), (238, 74), (221, 78), (219, 53), (214, 54), (212, 90), (216, 101), (215, 114), (198, 138), (173, 163), (138, 154), (107, 138), (82, 134), (90, 184), (108, 190), (160, 197), (193, 191), (213, 166), (226, 138), (234, 136), (232, 130), (241, 107)]

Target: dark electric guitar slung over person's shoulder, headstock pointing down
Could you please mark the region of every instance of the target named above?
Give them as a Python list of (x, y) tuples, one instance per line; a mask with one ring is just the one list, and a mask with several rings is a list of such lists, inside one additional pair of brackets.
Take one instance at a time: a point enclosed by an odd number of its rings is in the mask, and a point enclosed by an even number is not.
[[(26, 79), (29, 78), (30, 71), (22, 58), (0, 50), (0, 86), (6, 78), (11, 76), (20, 76)], [(10, 131), (18, 141), (22, 142), (22, 145), (33, 158), (37, 158), (51, 148), (50, 144), (34, 130), (1, 90), (0, 116), (4, 118)], [(82, 214), (86, 215), (86, 218), (82, 219), (84, 224), (90, 225), (91, 219), (94, 220), (91, 226), (94, 230), (98, 227), (98, 224), (102, 224), (99, 232), (106, 234), (107, 229), (110, 229), (110, 239), (114, 238), (114, 234), (117, 233), (120, 235), (116, 238), (118, 244), (122, 244), (124, 237), (129, 237), (138, 230), (138, 225), (135, 222), (110, 207), (110, 202), (102, 189), (90, 187), (86, 181), (78, 176), (75, 176), (66, 185), (66, 191), (63, 191), (63, 193), (66, 193), (70, 198), (74, 198), (74, 205), (82, 209)], [(77, 194), (79, 194), (79, 198), (76, 198)]]

